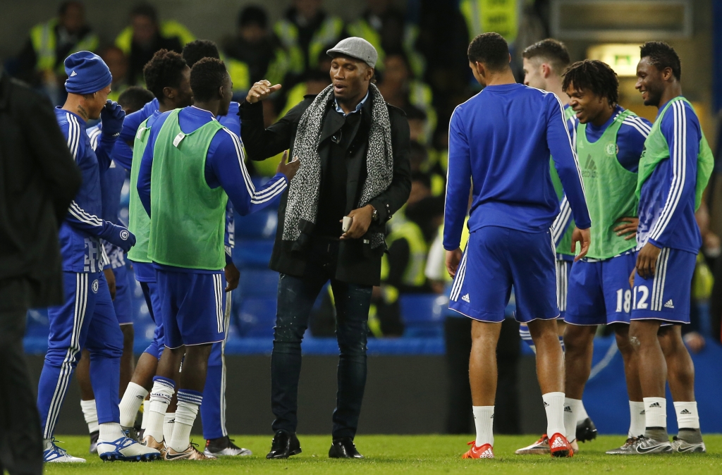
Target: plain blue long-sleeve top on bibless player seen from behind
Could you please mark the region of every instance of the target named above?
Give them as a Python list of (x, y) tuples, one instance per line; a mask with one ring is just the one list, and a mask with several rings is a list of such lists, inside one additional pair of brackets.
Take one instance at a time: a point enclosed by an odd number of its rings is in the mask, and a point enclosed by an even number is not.
[(548, 230), (559, 214), (549, 156), (581, 229), (591, 226), (562, 103), (523, 84), (484, 87), (458, 105), (449, 124), (444, 248), (454, 250), (469, 204), (469, 231), (500, 226)]

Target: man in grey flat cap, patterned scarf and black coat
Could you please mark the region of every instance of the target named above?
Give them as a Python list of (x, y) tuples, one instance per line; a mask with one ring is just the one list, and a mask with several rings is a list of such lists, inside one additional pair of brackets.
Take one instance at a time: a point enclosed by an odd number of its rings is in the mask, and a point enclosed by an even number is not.
[(253, 84), (239, 112), (251, 160), (290, 149), (301, 161), (281, 201), (270, 264), (280, 278), (271, 356), (276, 434), (268, 458), (301, 451), (295, 435), (301, 340), (329, 280), (340, 350), (329, 457), (362, 457), (353, 439), (366, 383), (371, 291), (380, 280), (386, 222), (411, 191), (409, 123), (371, 83), (375, 48), (347, 38), (328, 53), (332, 84), (305, 96), (274, 125), (264, 129), (261, 100), (280, 84)]

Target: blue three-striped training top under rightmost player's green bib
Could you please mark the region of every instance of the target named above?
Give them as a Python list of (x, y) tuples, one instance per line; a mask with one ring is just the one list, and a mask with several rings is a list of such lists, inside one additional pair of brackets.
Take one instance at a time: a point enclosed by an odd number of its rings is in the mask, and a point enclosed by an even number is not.
[(695, 219), (701, 130), (695, 110), (682, 100), (664, 114), (660, 131), (669, 145), (669, 159), (659, 162), (640, 190), (639, 249), (649, 242), (696, 254), (702, 247)]

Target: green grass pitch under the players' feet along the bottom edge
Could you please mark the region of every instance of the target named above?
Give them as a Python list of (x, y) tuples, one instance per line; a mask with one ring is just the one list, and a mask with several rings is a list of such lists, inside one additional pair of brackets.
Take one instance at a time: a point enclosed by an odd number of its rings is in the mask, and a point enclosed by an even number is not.
[[(533, 435), (495, 437), (495, 460), (462, 460), (470, 436), (453, 435), (360, 435), (357, 447), (364, 460), (330, 460), (331, 437), (300, 435), (303, 453), (287, 460), (267, 461), (271, 436), (232, 436), (235, 442), (253, 450), (253, 456), (220, 458), (207, 462), (103, 463), (87, 456), (87, 437), (63, 437), (61, 447), (74, 456), (87, 457), (84, 464), (48, 464), (45, 474), (720, 474), (722, 435), (705, 435), (707, 454), (670, 456), (607, 456), (604, 450), (624, 443), (625, 437), (599, 436), (581, 444), (580, 453), (570, 459), (548, 456), (516, 456), (514, 450), (534, 442)], [(201, 437), (193, 436), (196, 442)]]

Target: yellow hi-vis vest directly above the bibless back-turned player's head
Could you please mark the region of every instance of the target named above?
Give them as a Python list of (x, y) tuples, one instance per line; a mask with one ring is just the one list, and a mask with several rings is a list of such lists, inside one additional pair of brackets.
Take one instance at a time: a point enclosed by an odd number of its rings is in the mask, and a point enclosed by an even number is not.
[(497, 32), (513, 43), (519, 32), (519, 0), (461, 0), (459, 10), (464, 15), (469, 42), (477, 35)]

